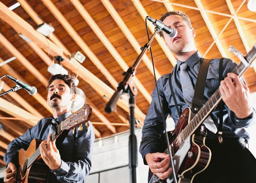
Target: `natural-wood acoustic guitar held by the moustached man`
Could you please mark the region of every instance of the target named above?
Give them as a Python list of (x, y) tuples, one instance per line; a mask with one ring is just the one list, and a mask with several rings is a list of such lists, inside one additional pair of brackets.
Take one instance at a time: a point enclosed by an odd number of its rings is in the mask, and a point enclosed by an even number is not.
[[(59, 125), (56, 130), (52, 132), (52, 141), (57, 139), (64, 130), (70, 130), (76, 126), (81, 125), (83, 122), (87, 122), (92, 115), (92, 108), (90, 105), (84, 105), (81, 109), (71, 114)], [(79, 128), (83, 128), (79, 126)], [(41, 159), (39, 145), (41, 140), (33, 139), (29, 145), (29, 148), (25, 151), (20, 149), (19, 151), (19, 165), (16, 173), (16, 183), (46, 183), (48, 177), (49, 167)]]

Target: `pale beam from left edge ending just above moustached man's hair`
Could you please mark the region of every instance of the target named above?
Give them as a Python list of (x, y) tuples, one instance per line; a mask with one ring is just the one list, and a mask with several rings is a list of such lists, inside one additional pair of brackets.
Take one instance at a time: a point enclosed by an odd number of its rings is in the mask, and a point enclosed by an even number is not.
[(0, 33), (0, 43), (14, 55), (29, 72), (35, 76), (45, 87), (48, 85), (47, 79)]

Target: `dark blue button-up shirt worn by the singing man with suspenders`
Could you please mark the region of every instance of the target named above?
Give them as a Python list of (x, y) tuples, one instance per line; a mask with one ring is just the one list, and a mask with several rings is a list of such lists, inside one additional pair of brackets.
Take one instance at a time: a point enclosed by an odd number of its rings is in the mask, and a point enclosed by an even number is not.
[[(191, 80), (192, 84), (195, 87), (196, 79), (198, 76), (199, 69), (201, 67), (202, 57), (199, 52), (196, 52), (191, 57), (189, 57), (186, 61), (186, 64), (189, 65), (189, 69), (187, 70)], [(207, 100), (212, 96), (212, 94), (218, 89), (219, 87), (219, 81), (218, 81), (218, 75), (219, 75), (219, 62), (220, 58), (214, 58), (210, 61), (209, 64), (209, 70), (207, 73), (206, 78), (206, 86), (204, 89), (204, 102), (207, 102)], [(183, 99), (183, 93), (181, 89), (180, 84), (180, 64), (182, 62), (177, 60), (177, 64), (172, 70), (172, 87), (175, 93), (175, 98), (177, 100), (177, 105), (180, 110), (180, 113), (188, 107), (186, 102)], [(231, 73), (233, 69), (236, 67), (236, 63), (228, 58), (224, 58), (223, 64), (222, 64), (222, 78), (225, 78), (227, 76), (227, 73)], [(160, 137), (164, 133), (164, 127), (163, 127), (163, 119), (161, 116), (160, 106), (163, 107), (163, 113), (165, 116), (165, 119), (168, 115), (170, 115), (175, 122), (175, 126), (177, 125), (177, 122), (180, 118), (175, 102), (170, 90), (169, 86), (169, 74), (166, 74), (164, 76), (161, 76), (157, 81), (157, 86), (160, 93), (160, 101), (161, 105), (158, 102), (157, 98), (157, 89), (154, 87), (154, 91), (152, 93), (152, 102), (148, 109), (148, 113), (146, 115), (143, 130), (142, 130), (142, 141), (140, 144), (140, 153), (143, 156), (143, 159), (147, 153), (154, 153), (154, 152), (160, 152), (160, 149), (163, 147), (160, 143)], [(242, 110), (242, 109), (241, 109)], [(218, 108), (213, 110), (212, 112), (212, 119), (218, 128), (219, 124), (219, 110)], [(246, 119), (239, 119), (236, 117), (235, 113), (230, 111), (225, 106), (225, 110), (223, 112), (223, 137), (244, 137), (249, 138), (249, 134), (245, 131), (245, 128), (252, 124), (252, 122), (255, 122), (256, 112), (255, 109), (253, 109), (253, 113)], [(212, 132), (207, 132), (207, 139), (213, 139), (217, 138), (216, 134), (213, 134)]]

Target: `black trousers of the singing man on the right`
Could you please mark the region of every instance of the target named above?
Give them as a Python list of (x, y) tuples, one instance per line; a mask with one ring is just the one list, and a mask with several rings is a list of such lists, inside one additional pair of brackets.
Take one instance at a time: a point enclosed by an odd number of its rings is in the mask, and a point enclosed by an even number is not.
[(256, 183), (256, 159), (238, 138), (207, 140), (212, 152), (209, 166), (193, 183)]

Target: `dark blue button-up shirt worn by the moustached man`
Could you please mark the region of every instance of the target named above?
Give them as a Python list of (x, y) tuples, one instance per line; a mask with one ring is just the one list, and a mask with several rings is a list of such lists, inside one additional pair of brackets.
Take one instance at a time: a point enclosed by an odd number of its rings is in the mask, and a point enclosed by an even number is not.
[[(64, 121), (72, 113), (64, 113), (58, 116), (59, 122)], [(54, 130), (54, 126), (50, 125), (47, 121), (49, 118), (41, 119), (37, 125), (29, 128), (25, 134), (14, 139), (9, 145), (7, 152), (4, 156), (6, 165), (10, 162), (18, 165), (18, 153), (21, 148), (27, 149), (32, 139), (46, 140), (49, 132)], [(45, 126), (46, 125), (46, 126)], [(51, 177), (54, 175), (60, 183), (84, 183), (84, 177), (89, 174), (91, 168), (91, 157), (93, 152), (94, 143), (94, 130), (90, 123), (89, 127), (82, 125), (83, 129), (78, 131), (75, 128), (74, 134), (72, 130), (69, 131), (67, 136), (59, 148), (61, 155), (61, 167), (57, 170), (50, 170), (52, 173), (48, 182), (55, 183)], [(46, 128), (45, 128), (46, 127)], [(45, 129), (43, 131), (43, 129)]]

